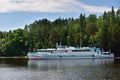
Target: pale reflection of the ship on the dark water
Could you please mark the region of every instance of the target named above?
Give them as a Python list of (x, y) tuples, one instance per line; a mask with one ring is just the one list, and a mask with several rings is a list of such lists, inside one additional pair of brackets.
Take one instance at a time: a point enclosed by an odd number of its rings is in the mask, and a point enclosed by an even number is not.
[(84, 66), (102, 66), (114, 63), (114, 59), (68, 59), (68, 60), (29, 60), (28, 68), (39, 70), (60, 70)]

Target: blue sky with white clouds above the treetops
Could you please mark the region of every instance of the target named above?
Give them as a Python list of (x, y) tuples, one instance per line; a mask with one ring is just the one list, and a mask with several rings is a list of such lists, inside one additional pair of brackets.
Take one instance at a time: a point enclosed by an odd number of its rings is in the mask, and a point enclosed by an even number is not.
[(78, 18), (80, 13), (101, 15), (104, 11), (115, 11), (120, 0), (0, 0), (0, 31), (9, 31), (35, 20), (47, 18)]

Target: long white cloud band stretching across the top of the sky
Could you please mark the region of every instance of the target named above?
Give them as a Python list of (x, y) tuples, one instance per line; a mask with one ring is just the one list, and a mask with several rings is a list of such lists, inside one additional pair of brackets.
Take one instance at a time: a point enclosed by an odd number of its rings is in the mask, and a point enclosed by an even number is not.
[(104, 12), (109, 7), (86, 5), (77, 0), (1, 0), (0, 12)]

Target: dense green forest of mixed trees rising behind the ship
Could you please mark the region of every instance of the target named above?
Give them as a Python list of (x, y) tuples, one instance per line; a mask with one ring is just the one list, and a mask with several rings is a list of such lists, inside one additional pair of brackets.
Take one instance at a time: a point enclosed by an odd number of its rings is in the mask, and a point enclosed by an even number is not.
[(80, 14), (74, 18), (36, 20), (24, 29), (0, 31), (0, 56), (25, 56), (28, 51), (67, 46), (96, 46), (120, 57), (120, 8), (101, 16)]

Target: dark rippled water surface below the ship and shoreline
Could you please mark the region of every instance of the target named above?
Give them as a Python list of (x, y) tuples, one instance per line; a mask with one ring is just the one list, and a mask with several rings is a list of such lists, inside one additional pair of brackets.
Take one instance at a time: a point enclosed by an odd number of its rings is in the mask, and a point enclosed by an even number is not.
[(120, 80), (119, 61), (0, 59), (0, 80)]

